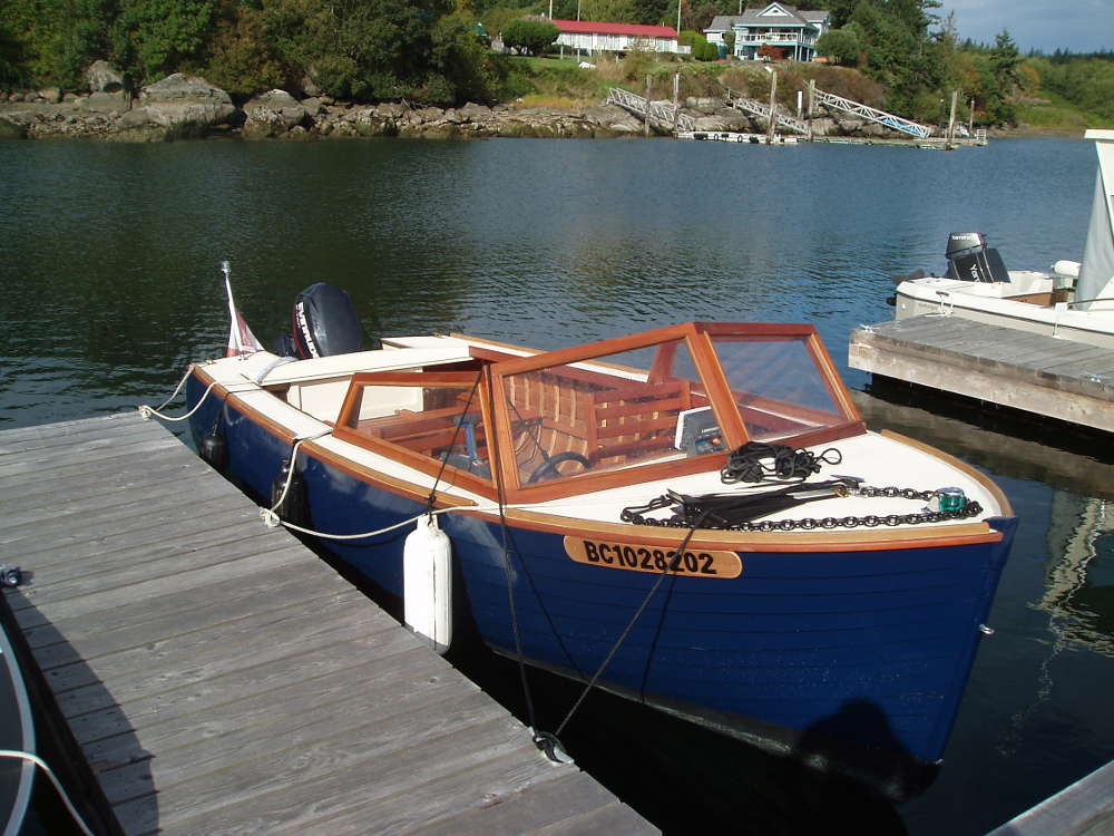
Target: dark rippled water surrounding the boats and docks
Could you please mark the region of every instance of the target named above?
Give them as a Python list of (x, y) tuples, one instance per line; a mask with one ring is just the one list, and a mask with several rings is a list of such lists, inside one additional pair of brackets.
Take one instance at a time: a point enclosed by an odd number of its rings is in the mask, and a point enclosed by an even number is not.
[[(551, 348), (684, 321), (809, 321), (860, 408), (971, 461), (1020, 516), (948, 748), (898, 808), (593, 694), (578, 762), (671, 832), (981, 834), (1114, 757), (1108, 445), (987, 427), (975, 408), (879, 399), (848, 334), (892, 315), (889, 276), (939, 270), (979, 231), (1007, 265), (1079, 259), (1089, 143), (945, 154), (667, 140), (0, 144), (0, 429), (158, 402), (223, 352), (229, 259), (271, 342), (294, 295), (346, 288), (372, 334), (462, 331)], [(927, 409), (925, 407), (928, 407)], [(520, 702), (517, 673), (476, 663)], [(576, 697), (543, 680), (549, 727)], [(604, 741), (604, 742), (600, 742)], [(663, 791), (667, 788), (668, 791)]]

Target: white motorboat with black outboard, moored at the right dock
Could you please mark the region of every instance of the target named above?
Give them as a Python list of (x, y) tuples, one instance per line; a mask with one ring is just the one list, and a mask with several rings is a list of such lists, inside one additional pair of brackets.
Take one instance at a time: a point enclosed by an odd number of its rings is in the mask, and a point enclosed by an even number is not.
[(947, 275), (908, 276), (893, 298), (897, 319), (962, 317), (995, 325), (1114, 348), (1114, 130), (1088, 130), (1098, 173), (1082, 264), (1053, 272), (1006, 270), (977, 232), (948, 239)]

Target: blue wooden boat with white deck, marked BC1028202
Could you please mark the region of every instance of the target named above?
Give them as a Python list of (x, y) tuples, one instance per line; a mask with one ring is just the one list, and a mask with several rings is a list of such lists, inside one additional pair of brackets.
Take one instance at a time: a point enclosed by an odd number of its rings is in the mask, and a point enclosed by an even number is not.
[(192, 367), (187, 401), (287, 523), (402, 524), (321, 541), (388, 593), (432, 511), (437, 606), (497, 653), (897, 796), (944, 755), (1016, 522), (976, 469), (868, 431), (810, 325), (255, 351)]

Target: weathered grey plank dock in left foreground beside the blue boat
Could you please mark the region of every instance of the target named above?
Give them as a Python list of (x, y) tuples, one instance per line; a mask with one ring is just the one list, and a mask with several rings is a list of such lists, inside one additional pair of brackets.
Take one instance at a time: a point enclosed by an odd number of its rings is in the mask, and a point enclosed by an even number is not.
[(101, 829), (655, 832), (157, 421), (0, 432), (0, 504)]

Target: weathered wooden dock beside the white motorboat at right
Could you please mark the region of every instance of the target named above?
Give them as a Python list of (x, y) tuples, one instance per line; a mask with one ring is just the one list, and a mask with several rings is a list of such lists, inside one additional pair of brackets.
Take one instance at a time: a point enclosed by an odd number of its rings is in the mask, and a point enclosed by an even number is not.
[(1114, 432), (1114, 351), (1107, 348), (929, 314), (857, 328), (848, 363)]

